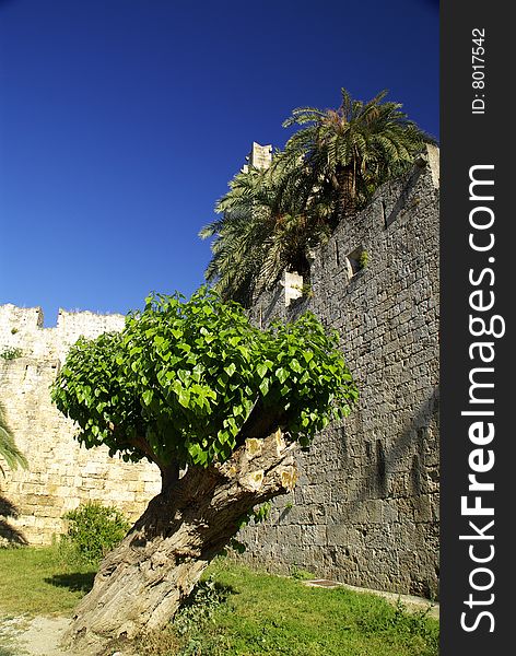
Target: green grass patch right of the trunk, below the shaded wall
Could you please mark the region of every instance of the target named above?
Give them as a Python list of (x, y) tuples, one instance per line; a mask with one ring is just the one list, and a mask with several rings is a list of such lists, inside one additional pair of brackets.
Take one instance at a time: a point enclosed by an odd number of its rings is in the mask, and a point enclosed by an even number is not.
[[(436, 656), (438, 622), (376, 595), (307, 587), (300, 579), (216, 560), (204, 605), (139, 646), (142, 655)], [(216, 593), (220, 600), (216, 604)], [(202, 600), (201, 600), (202, 601)], [(430, 605), (429, 605), (430, 609)], [(186, 625), (186, 631), (184, 632)]]

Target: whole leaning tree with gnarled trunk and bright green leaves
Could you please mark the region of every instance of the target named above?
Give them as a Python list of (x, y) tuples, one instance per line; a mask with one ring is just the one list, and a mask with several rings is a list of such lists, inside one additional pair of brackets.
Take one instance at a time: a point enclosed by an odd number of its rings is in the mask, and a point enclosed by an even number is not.
[(292, 489), (295, 446), (356, 399), (337, 347), (312, 315), (260, 331), (204, 289), (188, 302), (152, 295), (120, 333), (78, 341), (57, 407), (87, 448), (146, 458), (163, 484), (104, 559), (70, 636), (162, 626), (243, 517)]

